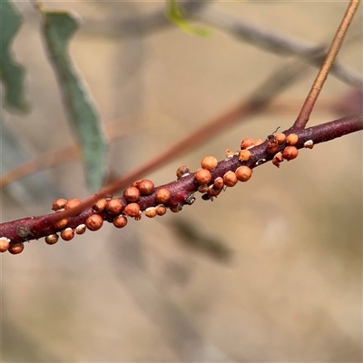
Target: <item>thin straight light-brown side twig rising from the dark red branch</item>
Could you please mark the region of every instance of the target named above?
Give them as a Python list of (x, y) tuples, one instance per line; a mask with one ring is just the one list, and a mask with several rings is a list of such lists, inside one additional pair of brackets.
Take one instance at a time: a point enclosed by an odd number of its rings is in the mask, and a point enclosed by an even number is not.
[(335, 34), (334, 39), (330, 45), (329, 52), (327, 54), (327, 58), (324, 61), (324, 64), (321, 66), (319, 70), (319, 74), (315, 79), (311, 90), (308, 94), (305, 103), (302, 105), (301, 111), (297, 120), (294, 123), (294, 128), (304, 128), (309, 121), (310, 114), (312, 109), (314, 108), (314, 104), (316, 103), (319, 93), (323, 88), (323, 85), (328, 77), (329, 70), (331, 65), (334, 63), (334, 60), (339, 52), (341, 44), (343, 44), (344, 36), (348, 31), (348, 27), (355, 15), (360, 0), (350, 0), (350, 4), (348, 5), (348, 9), (346, 14), (341, 21), (337, 34)]

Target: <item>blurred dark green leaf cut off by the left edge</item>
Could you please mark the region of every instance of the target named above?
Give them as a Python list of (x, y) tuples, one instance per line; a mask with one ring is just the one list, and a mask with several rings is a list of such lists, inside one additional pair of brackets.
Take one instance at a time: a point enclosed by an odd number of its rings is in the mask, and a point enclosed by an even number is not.
[(25, 112), (28, 109), (24, 94), (25, 69), (15, 62), (9, 49), (22, 18), (8, 0), (0, 1), (0, 14), (0, 77), (5, 85), (5, 106)]

